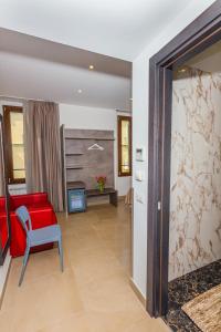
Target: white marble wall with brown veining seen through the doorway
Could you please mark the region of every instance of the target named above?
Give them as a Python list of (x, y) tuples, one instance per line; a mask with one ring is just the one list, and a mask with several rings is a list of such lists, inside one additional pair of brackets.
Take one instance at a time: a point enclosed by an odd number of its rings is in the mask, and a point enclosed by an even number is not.
[(173, 80), (169, 280), (221, 258), (221, 74)]

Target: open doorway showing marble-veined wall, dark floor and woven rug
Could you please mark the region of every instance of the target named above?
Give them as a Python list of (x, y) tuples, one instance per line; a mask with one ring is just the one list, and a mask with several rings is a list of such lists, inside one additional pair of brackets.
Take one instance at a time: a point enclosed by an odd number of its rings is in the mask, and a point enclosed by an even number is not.
[(173, 70), (166, 320), (178, 330), (220, 326), (220, 59), (221, 41)]

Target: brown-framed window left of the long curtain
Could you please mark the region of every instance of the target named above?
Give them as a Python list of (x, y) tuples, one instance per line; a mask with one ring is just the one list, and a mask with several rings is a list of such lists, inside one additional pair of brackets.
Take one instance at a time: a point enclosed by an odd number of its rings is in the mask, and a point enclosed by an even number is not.
[(3, 106), (8, 184), (25, 183), (22, 107)]

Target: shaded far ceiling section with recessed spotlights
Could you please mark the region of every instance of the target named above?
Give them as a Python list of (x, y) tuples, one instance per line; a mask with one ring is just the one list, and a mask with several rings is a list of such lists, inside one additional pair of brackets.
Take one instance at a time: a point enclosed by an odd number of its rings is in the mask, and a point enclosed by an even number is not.
[(0, 29), (1, 96), (130, 111), (130, 62)]

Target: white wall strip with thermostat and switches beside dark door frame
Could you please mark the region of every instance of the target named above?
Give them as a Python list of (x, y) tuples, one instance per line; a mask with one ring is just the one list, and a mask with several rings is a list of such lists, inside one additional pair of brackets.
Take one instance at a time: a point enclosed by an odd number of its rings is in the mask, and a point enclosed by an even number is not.
[[(134, 151), (136, 146), (148, 146), (148, 77), (149, 59), (157, 53), (165, 44), (176, 37), (183, 28), (193, 21), (212, 0), (192, 1), (186, 10), (171, 21), (164, 29), (164, 32), (155, 38), (155, 41), (144, 49), (133, 63), (133, 137)], [(134, 154), (135, 155), (135, 154)], [(133, 176), (135, 189), (134, 201), (134, 282), (146, 297), (146, 269), (147, 269), (147, 175), (148, 166), (138, 163), (134, 158), (134, 175), (137, 169), (145, 173), (145, 181), (138, 183)], [(144, 204), (136, 200), (136, 196), (141, 195)]]

